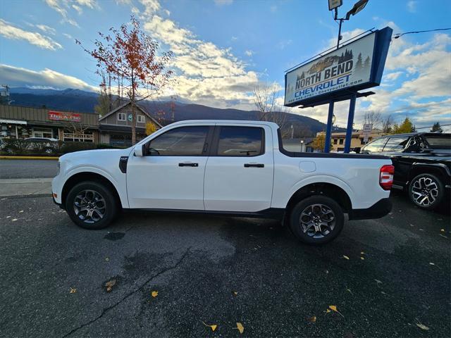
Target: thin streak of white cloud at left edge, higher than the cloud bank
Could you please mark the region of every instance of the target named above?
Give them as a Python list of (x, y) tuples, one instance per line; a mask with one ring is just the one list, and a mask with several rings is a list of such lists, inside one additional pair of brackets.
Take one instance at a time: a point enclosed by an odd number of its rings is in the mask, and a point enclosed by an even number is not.
[(0, 19), (0, 35), (3, 35), (6, 39), (25, 40), (39, 48), (49, 49), (51, 51), (63, 48), (61, 44), (58, 44), (58, 42), (50, 37), (41, 35), (38, 32), (29, 32), (22, 28), (15, 27), (3, 19)]

